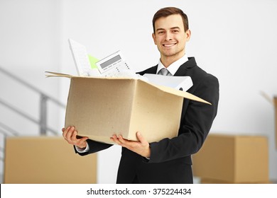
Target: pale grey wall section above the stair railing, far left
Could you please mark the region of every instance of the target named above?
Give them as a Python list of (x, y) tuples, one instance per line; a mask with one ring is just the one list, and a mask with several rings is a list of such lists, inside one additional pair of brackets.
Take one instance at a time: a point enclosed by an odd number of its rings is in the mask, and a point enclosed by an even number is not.
[[(57, 70), (60, 66), (59, 10), (60, 2), (55, 0), (0, 1), (0, 66), (55, 98), (58, 98), (59, 81), (46, 80), (44, 72)], [(4, 74), (0, 75), (1, 98), (28, 115), (38, 117), (40, 95), (18, 86), (19, 83)], [(28, 134), (38, 133), (36, 124), (31, 128), (24, 125), (26, 129), (21, 125), (24, 122), (14, 124), (13, 116), (16, 115), (4, 116), (3, 113), (1, 119), (11, 122), (18, 131), (24, 129)], [(58, 124), (57, 117), (50, 116), (48, 120), (53, 126)]]

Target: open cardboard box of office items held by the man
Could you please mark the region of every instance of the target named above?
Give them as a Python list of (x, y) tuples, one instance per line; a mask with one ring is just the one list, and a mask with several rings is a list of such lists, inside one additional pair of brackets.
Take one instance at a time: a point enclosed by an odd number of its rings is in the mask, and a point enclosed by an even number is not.
[(173, 138), (178, 134), (183, 99), (207, 103), (140, 79), (56, 76), (71, 79), (65, 127), (75, 126), (78, 135), (109, 144), (114, 143), (113, 134), (136, 141), (136, 132), (141, 132), (148, 142)]

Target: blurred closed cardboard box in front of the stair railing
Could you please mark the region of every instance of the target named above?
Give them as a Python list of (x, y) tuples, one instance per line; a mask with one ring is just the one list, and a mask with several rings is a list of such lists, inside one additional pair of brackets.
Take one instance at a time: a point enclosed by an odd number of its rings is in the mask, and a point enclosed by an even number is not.
[(6, 184), (92, 184), (97, 155), (79, 156), (61, 137), (7, 137)]

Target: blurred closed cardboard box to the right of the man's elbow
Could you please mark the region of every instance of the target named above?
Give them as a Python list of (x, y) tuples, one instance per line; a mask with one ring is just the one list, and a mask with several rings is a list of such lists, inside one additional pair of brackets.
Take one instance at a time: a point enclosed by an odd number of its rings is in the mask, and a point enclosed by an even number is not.
[(197, 177), (230, 183), (268, 181), (268, 141), (265, 136), (209, 134), (192, 156)]

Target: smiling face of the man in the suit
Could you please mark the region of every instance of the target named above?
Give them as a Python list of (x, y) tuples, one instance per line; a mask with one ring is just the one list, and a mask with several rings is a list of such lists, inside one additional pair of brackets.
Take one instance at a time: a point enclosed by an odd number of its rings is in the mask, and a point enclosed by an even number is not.
[(161, 52), (161, 59), (176, 61), (185, 54), (185, 42), (190, 40), (190, 30), (185, 32), (182, 17), (174, 14), (158, 18), (152, 36)]

